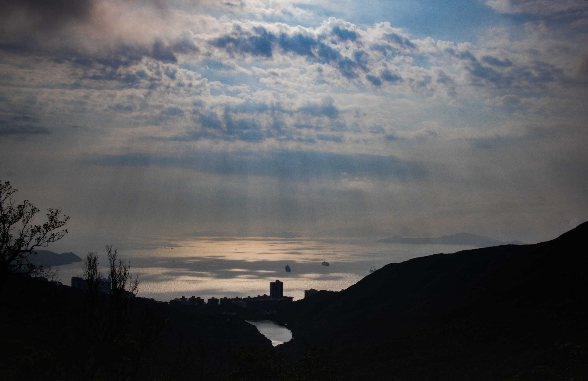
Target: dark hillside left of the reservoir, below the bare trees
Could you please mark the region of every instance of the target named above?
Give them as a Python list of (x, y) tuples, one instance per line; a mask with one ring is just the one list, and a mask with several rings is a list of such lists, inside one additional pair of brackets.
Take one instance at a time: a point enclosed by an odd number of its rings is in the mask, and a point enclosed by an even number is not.
[(0, 295), (0, 379), (208, 380), (229, 372), (236, 350), (272, 350), (236, 316), (145, 298), (133, 298), (126, 329), (106, 342), (108, 295), (96, 305), (89, 320), (82, 290), (11, 276)]

